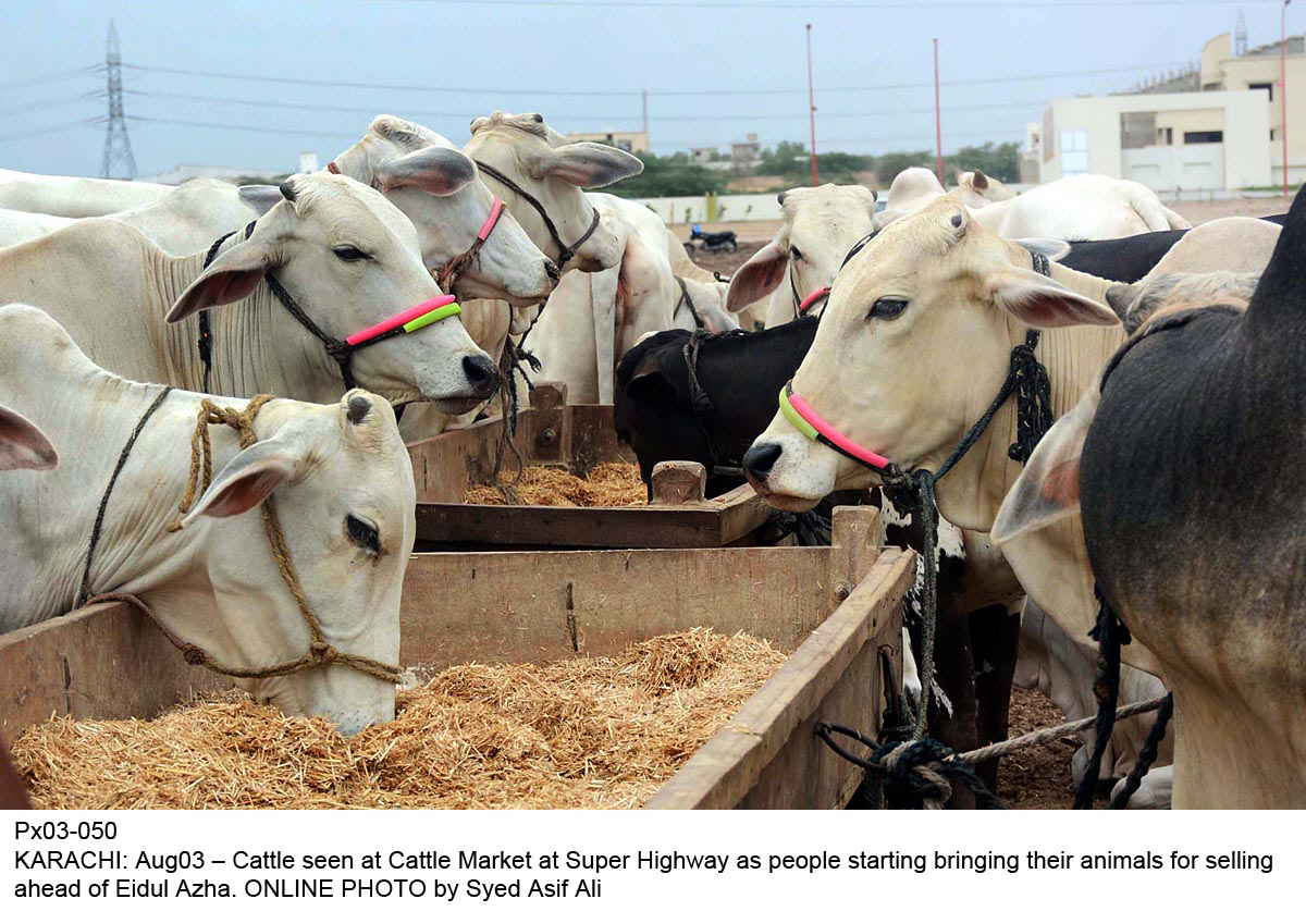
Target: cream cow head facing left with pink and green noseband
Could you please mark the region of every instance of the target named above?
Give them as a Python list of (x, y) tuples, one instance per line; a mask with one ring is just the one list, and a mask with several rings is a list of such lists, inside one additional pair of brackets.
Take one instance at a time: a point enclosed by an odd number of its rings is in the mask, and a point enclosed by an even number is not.
[[(904, 469), (935, 470), (989, 407), (1032, 326), (1109, 325), (1115, 315), (1032, 270), (1028, 249), (940, 198), (885, 227), (835, 283), (793, 380), (825, 422)], [(777, 414), (744, 457), (785, 509), (878, 482)]]

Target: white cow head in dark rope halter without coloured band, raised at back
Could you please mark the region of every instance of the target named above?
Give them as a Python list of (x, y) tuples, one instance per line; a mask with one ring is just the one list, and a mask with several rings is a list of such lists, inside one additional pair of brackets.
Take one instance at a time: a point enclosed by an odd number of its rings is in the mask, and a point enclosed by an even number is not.
[[(488, 117), (477, 117), (471, 121), (471, 140), (464, 151), (530, 193), (568, 245), (585, 235), (594, 217), (594, 209), (581, 191), (607, 187), (644, 170), (639, 158), (620, 149), (598, 142), (567, 142), (538, 114), (495, 111)], [(558, 244), (535, 209), (492, 176), (482, 174), (481, 179), (503, 197), (535, 247), (547, 256), (558, 257)], [(563, 270), (602, 271), (615, 266), (620, 258), (622, 244), (616, 234), (601, 221)]]

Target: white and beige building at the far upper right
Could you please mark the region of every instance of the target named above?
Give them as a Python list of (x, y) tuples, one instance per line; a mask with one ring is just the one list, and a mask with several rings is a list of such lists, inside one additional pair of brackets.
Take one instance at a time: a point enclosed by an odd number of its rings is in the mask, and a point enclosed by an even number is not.
[[(1200, 64), (1127, 94), (1064, 98), (1043, 112), (1041, 180), (1104, 174), (1162, 193), (1282, 183), (1281, 44), (1234, 54), (1230, 34)], [(1306, 39), (1288, 39), (1288, 176), (1306, 178)], [(1293, 90), (1293, 86), (1301, 86)], [(1032, 144), (1030, 144), (1032, 145)]]

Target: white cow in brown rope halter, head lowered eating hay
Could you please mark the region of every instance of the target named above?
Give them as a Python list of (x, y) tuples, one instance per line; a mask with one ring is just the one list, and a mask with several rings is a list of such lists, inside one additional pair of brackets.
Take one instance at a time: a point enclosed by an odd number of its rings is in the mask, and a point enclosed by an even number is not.
[[(0, 632), (67, 613), (84, 594), (128, 593), (176, 637), (227, 666), (298, 659), (308, 651), (308, 629), (256, 509), (274, 495), (326, 643), (394, 664), (417, 492), (390, 409), (360, 390), (330, 405), (266, 403), (253, 422), (257, 442), (247, 449), (235, 431), (214, 427), (213, 482), (184, 517), (178, 508), (206, 397), (174, 390), (123, 465), (82, 591), (103, 492), (159, 393), (97, 367), (40, 311), (0, 307), (0, 398), (35, 418), (65, 456), (35, 476), (0, 475)], [(325, 715), (345, 733), (394, 717), (394, 684), (343, 664), (238, 683), (289, 714)]]

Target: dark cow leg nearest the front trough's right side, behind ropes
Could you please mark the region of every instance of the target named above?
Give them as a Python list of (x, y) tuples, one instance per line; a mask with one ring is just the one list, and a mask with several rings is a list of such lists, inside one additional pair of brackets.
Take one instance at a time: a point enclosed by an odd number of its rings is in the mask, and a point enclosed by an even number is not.
[[(939, 613), (934, 637), (934, 677), (952, 706), (949, 713), (930, 700), (930, 736), (959, 753), (978, 747), (976, 727), (974, 660), (970, 653), (970, 626), (966, 619), (961, 586), (949, 583), (940, 573)], [(922, 685), (929, 685), (921, 681)], [(935, 697), (938, 693), (935, 693)], [(951, 809), (974, 809), (969, 788), (957, 786), (948, 801)]]

